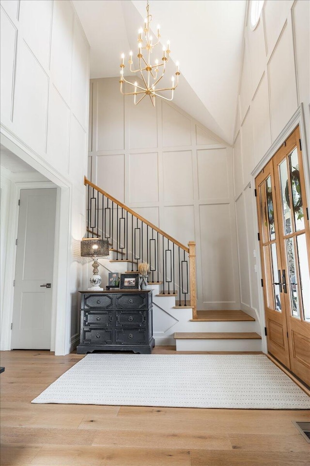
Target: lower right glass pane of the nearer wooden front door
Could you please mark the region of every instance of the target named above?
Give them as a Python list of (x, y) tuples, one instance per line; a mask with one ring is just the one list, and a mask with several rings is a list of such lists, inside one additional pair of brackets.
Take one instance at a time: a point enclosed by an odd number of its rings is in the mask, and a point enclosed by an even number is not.
[(310, 275), (305, 233), (297, 236), (297, 254), (304, 319), (310, 322)]

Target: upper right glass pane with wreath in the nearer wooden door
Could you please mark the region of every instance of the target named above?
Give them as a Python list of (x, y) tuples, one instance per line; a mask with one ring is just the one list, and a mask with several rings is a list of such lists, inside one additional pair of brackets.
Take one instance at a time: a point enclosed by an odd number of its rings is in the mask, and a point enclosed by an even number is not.
[(298, 154), (297, 148), (290, 154), (290, 171), (291, 171), (291, 185), (293, 195), (293, 207), (294, 207), (294, 220), (295, 230), (303, 230), (305, 228), (304, 221), (304, 210), (302, 206), (301, 189), (300, 189), (300, 176), (299, 176), (299, 165), (298, 165)]

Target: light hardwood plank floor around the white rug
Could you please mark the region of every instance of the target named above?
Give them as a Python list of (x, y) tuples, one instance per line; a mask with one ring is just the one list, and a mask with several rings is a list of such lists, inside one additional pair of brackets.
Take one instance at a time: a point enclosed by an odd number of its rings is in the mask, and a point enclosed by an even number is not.
[(310, 464), (292, 423), (310, 421), (310, 411), (31, 404), (82, 357), (1, 353), (1, 466)]

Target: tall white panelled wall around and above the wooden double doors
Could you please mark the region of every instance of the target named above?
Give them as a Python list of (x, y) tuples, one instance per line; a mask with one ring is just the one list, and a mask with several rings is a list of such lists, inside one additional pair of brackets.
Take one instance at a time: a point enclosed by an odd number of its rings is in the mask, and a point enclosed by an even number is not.
[[(255, 167), (278, 141), (301, 102), (307, 132), (303, 156), (309, 193), (309, 164), (306, 160), (310, 141), (309, 7), (308, 0), (267, 0), (257, 28), (252, 31), (247, 25), (245, 30), (233, 170), (241, 308), (249, 313), (259, 311), (261, 278), (260, 269), (257, 273), (254, 269), (254, 254), (260, 252), (251, 172), (255, 172)], [(274, 152), (276, 150), (274, 148)], [(263, 322), (262, 306), (260, 316)]]

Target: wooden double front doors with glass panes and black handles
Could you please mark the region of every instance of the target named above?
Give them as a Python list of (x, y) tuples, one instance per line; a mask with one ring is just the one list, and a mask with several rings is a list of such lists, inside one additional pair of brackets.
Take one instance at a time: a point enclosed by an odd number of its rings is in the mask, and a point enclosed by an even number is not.
[(299, 128), (256, 178), (268, 352), (310, 385), (310, 235)]

